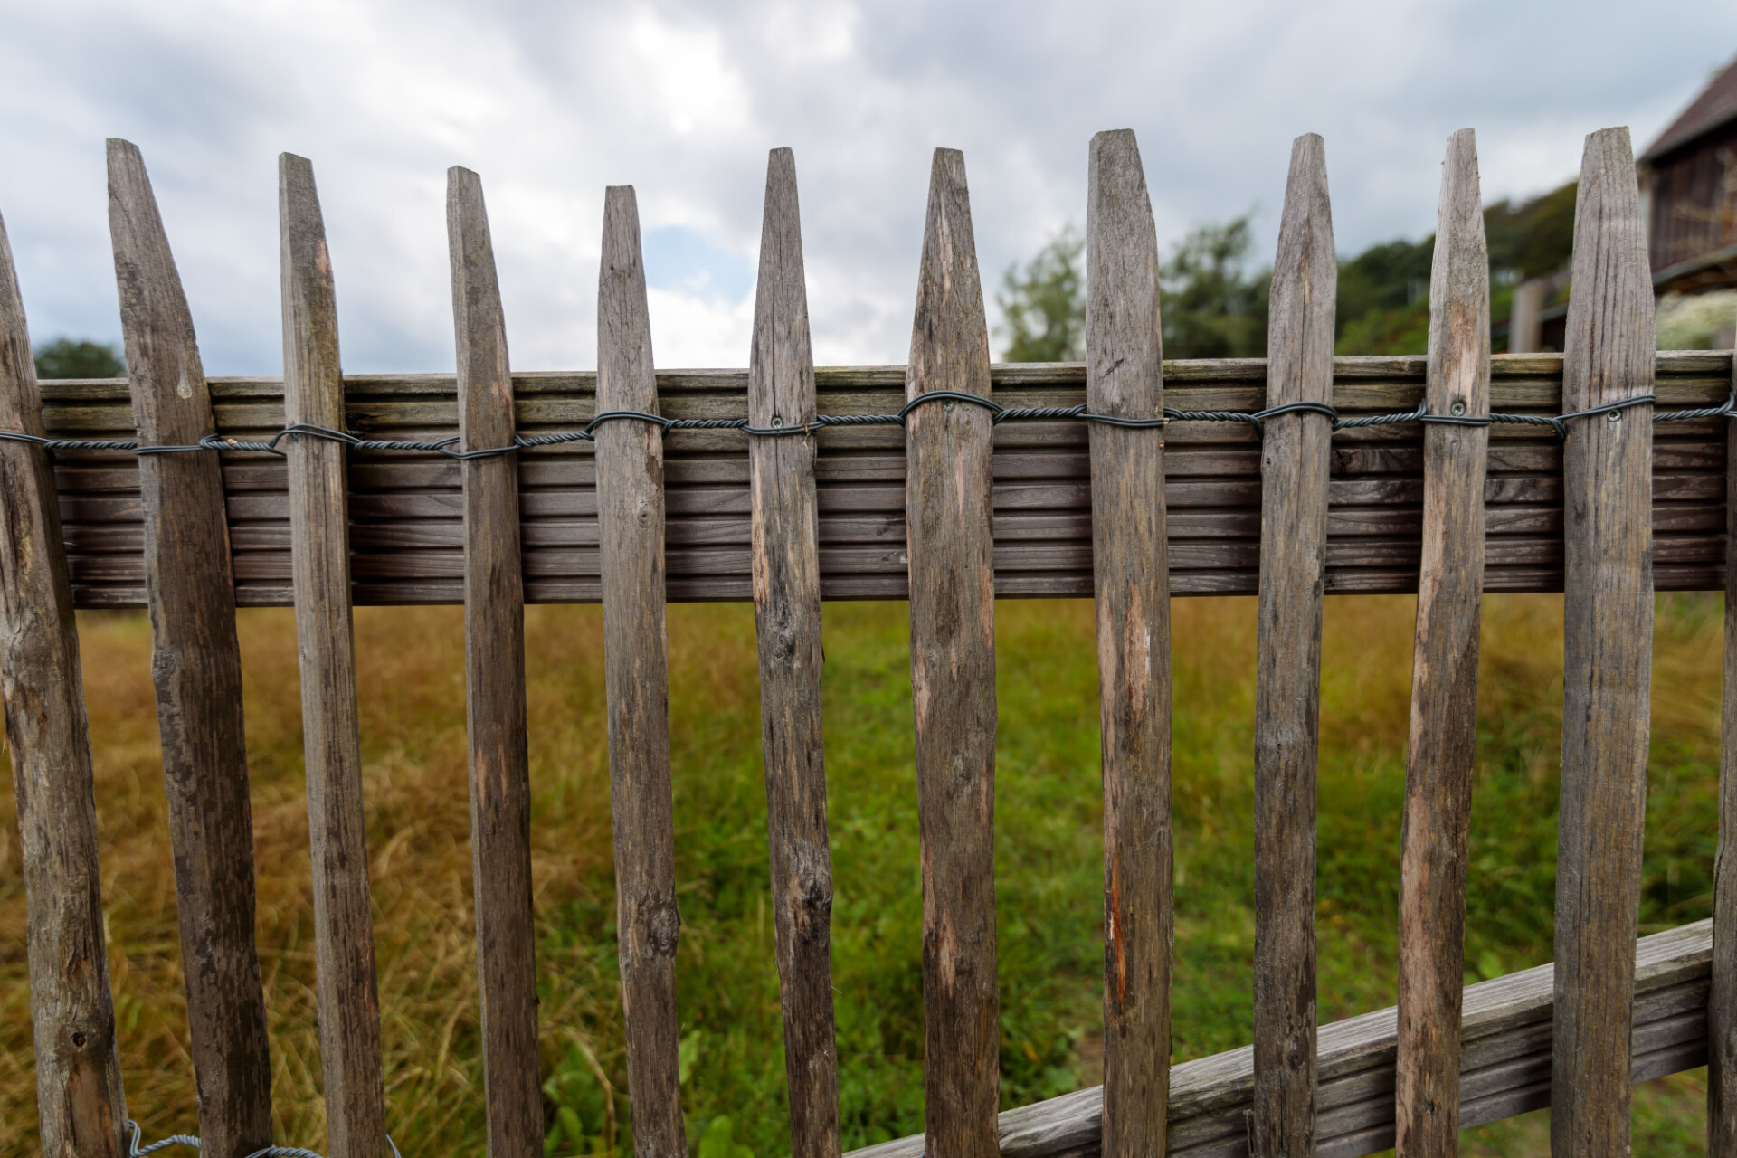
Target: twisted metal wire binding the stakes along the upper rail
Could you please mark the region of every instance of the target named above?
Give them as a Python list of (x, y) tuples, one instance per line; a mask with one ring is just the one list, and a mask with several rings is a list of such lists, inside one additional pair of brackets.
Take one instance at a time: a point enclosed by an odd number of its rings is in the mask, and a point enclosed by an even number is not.
[[(38, 434), (24, 434), (23, 431), (0, 431), (0, 441), (9, 443), (28, 443), (31, 446), (42, 446), (47, 451), (56, 450), (113, 450), (129, 451), (134, 455), (181, 455), (195, 453), (205, 450), (228, 450), (228, 451), (248, 451), (283, 457), (280, 443), (287, 438), (314, 438), (328, 443), (340, 443), (351, 450), (365, 451), (410, 451), (410, 453), (429, 453), (443, 455), (459, 462), (469, 462), (472, 458), (497, 458), (500, 455), (509, 455), (516, 450), (532, 446), (565, 446), (570, 443), (596, 443), (598, 427), (608, 422), (648, 422), (662, 431), (742, 431), (743, 434), (754, 438), (785, 438), (794, 434), (815, 434), (827, 427), (862, 427), (862, 425), (905, 425), (910, 411), (926, 403), (966, 403), (969, 406), (978, 406), (990, 411), (992, 424), (1002, 422), (1021, 422), (1021, 420), (1080, 420), (1080, 422), (1098, 422), (1103, 425), (1133, 427), (1133, 429), (1162, 429), (1171, 422), (1244, 422), (1254, 427), (1256, 434), (1265, 434), (1265, 424), (1271, 418), (1287, 413), (1315, 413), (1329, 418), (1334, 431), (1351, 431), (1362, 427), (1376, 425), (1395, 425), (1402, 422), (1423, 422), (1423, 424), (1442, 424), (1442, 425), (1466, 425), (1466, 427), (1487, 427), (1496, 422), (1509, 425), (1536, 425), (1548, 427), (1558, 438), (1569, 438), (1569, 422), (1574, 418), (1589, 418), (1596, 415), (1610, 415), (1612, 422), (1621, 418), (1621, 411), (1633, 406), (1654, 406), (1657, 405), (1655, 394), (1636, 394), (1635, 398), (1624, 398), (1614, 403), (1603, 403), (1600, 406), (1588, 406), (1586, 410), (1570, 410), (1560, 415), (1520, 415), (1520, 413), (1487, 413), (1487, 415), (1433, 415), (1430, 413), (1428, 401), (1417, 403), (1416, 410), (1383, 413), (1383, 415), (1360, 415), (1357, 418), (1341, 418), (1339, 411), (1329, 403), (1284, 403), (1278, 406), (1268, 406), (1266, 410), (1176, 410), (1171, 406), (1164, 408), (1162, 415), (1150, 418), (1133, 418), (1122, 415), (1100, 415), (1079, 406), (1002, 406), (1001, 403), (981, 398), (980, 394), (966, 394), (964, 391), (929, 391), (928, 394), (919, 394), (896, 413), (884, 415), (815, 415), (809, 422), (794, 422), (785, 425), (782, 420), (773, 418), (771, 425), (757, 427), (747, 418), (665, 418), (664, 415), (648, 413), (644, 410), (604, 410), (585, 424), (582, 431), (559, 431), (552, 434), (514, 434), (512, 443), (507, 446), (483, 446), (479, 450), (457, 450), (459, 436), (436, 439), (436, 441), (413, 441), (413, 439), (379, 439), (367, 438), (363, 434), (354, 434), (351, 431), (334, 431), (330, 427), (314, 425), (311, 422), (292, 422), (283, 427), (269, 439), (241, 439), (228, 434), (207, 434), (198, 443), (186, 446), (144, 446), (137, 439), (82, 439), (82, 438), (42, 438)], [(1737, 418), (1737, 392), (1734, 392), (1721, 406), (1697, 406), (1690, 410), (1668, 410), (1664, 413), (1654, 413), (1654, 422), (1688, 422), (1694, 418)]]

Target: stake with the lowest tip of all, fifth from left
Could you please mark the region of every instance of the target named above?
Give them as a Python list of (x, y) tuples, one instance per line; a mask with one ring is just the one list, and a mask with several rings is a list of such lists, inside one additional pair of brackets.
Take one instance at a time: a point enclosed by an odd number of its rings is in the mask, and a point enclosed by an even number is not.
[[(657, 413), (651, 321), (632, 186), (603, 205), (598, 283), (598, 410)], [(676, 1066), (676, 832), (669, 778), (669, 655), (664, 630), (664, 432), (598, 427), (598, 535), (615, 913), (627, 1016), (627, 1090), (637, 1158), (684, 1158)]]

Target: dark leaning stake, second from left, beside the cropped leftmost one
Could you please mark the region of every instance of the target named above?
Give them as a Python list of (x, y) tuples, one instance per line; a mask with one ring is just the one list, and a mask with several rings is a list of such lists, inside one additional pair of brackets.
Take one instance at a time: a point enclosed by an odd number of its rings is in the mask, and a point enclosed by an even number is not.
[[(108, 177), (139, 441), (198, 443), (215, 429), (205, 370), (139, 149), (111, 139)], [(241, 653), (217, 455), (144, 455), (139, 490), (200, 1139), (212, 1158), (245, 1158), (271, 1146), (271, 1054), (254, 948)]]

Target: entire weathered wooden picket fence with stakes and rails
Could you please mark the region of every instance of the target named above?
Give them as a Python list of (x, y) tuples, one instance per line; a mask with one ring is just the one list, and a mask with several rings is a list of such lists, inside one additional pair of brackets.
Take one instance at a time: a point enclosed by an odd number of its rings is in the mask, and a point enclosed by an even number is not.
[[(945, 149), (908, 366), (820, 372), (789, 151), (768, 172), (745, 373), (653, 370), (634, 193), (615, 188), (598, 373), (514, 375), (481, 182), (453, 168), (457, 375), (344, 377), (313, 170), (285, 155), (280, 177), (281, 382), (205, 378), (130, 144), (109, 142), (129, 382), (36, 384), (0, 233), (0, 665), (43, 1153), (130, 1148), (75, 606), (151, 611), (212, 1158), (273, 1142), (234, 608), (295, 606), (328, 1142), (387, 1158), (351, 606), (466, 604), (488, 1149), (537, 1158), (523, 604), (601, 601), (634, 1148), (674, 1158), (688, 1142), (664, 613), (754, 599), (792, 1151), (839, 1155), (820, 602), (882, 597), (912, 616), (928, 1128), (862, 1153), (1298, 1158), (1397, 1139), (1433, 1156), (1464, 1125), (1551, 1104), (1556, 1155), (1626, 1155), (1629, 1083), (1707, 1061), (1711, 1153), (1737, 1155), (1723, 832), (1714, 918), (1636, 941), (1652, 594), (1737, 575), (1734, 370), (1730, 352), (1654, 352), (1626, 130), (1588, 137), (1563, 356), (1490, 356), (1470, 130), (1443, 165), (1426, 358), (1334, 359), (1313, 135), (1291, 158), (1261, 361), (1160, 359), (1129, 132), (1091, 144), (1082, 366), (990, 365), (964, 160)], [(259, 453), (281, 431), (281, 460)], [(1556, 962), (1463, 990), (1485, 589), (1567, 592)], [(1398, 1005), (1317, 1030), (1322, 599), (1357, 590), (1419, 595)], [(1171, 1066), (1169, 595), (1230, 592), (1259, 595), (1254, 1042)], [(1105, 792), (1105, 1085), (1001, 1115), (999, 595), (1094, 597)]]

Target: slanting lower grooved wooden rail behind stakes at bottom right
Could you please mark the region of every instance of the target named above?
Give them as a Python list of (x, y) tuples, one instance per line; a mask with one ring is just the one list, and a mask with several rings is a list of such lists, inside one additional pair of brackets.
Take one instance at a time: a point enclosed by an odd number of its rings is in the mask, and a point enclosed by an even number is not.
[[(1707, 1059), (1707, 979), (1713, 922), (1641, 938), (1635, 946), (1635, 1082), (1692, 1069)], [(1466, 988), (1461, 1016), (1461, 1127), (1549, 1106), (1555, 967)], [(1393, 1146), (1393, 1007), (1320, 1028), (1317, 1127), (1320, 1158), (1357, 1158)], [(1254, 1101), (1254, 1050), (1171, 1066), (1169, 1153), (1245, 1158)], [(1096, 1158), (1103, 1087), (1001, 1115), (1002, 1158)], [(919, 1158), (922, 1137), (903, 1137), (848, 1158)]]

